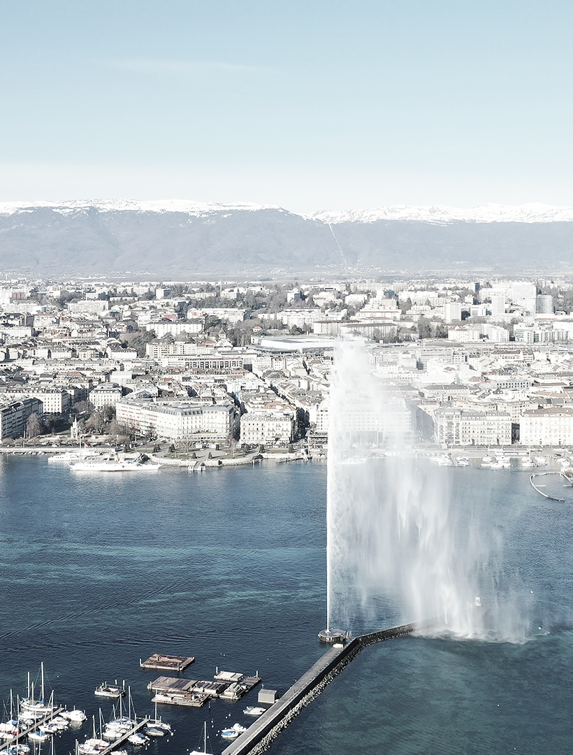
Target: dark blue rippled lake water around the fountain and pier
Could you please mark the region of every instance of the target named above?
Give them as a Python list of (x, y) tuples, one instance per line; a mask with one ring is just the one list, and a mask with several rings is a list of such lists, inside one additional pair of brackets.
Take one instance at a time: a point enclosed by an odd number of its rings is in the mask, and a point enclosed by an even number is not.
[[(57, 700), (89, 716), (94, 689), (125, 679), (152, 713), (153, 652), (194, 655), (183, 676), (254, 673), (284, 692), (324, 652), (324, 464), (190, 474), (72, 473), (0, 460), (0, 697), (44, 661)], [(568, 753), (573, 744), (573, 509), (520, 471), (445, 469), (451, 495), (483, 507), (521, 587), (528, 642), (408, 637), (366, 649), (273, 744), (293, 753)], [(386, 625), (380, 621), (381, 628)], [(540, 628), (541, 627), (541, 628)], [(365, 627), (367, 628), (367, 627)], [(166, 673), (166, 672), (165, 672)], [(176, 729), (151, 753), (185, 753), (208, 723), (247, 725), (238, 703), (162, 706)], [(84, 724), (80, 738), (87, 734)], [(72, 750), (75, 735), (57, 738)]]

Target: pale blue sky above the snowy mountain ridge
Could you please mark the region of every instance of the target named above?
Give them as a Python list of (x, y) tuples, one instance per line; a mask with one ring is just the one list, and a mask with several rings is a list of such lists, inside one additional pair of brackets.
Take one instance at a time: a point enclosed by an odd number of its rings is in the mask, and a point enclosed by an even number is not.
[(573, 205), (562, 0), (0, 0), (0, 201)]

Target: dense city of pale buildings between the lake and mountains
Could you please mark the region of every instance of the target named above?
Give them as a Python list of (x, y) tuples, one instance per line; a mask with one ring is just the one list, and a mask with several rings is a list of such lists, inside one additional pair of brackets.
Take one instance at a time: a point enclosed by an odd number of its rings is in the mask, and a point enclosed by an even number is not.
[(0, 302), (5, 450), (71, 434), (167, 443), (186, 461), (211, 449), (217, 464), (324, 455), (340, 337), (365, 341), (393, 405), (353, 399), (349, 430), (373, 445), (392, 442), (396, 421), (408, 442), (442, 449), (573, 444), (564, 278), (17, 279)]

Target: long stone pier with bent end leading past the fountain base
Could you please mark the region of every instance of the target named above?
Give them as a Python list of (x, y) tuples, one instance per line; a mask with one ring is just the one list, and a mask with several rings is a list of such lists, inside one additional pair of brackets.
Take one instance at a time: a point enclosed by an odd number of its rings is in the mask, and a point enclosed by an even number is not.
[(406, 636), (423, 627), (436, 626), (438, 623), (433, 620), (402, 624), (380, 632), (362, 634), (345, 645), (333, 646), (282, 695), (282, 698), (279, 698), (249, 726), (246, 732), (226, 747), (222, 755), (246, 755), (246, 753), (260, 753), (266, 750), (282, 729), (291, 723), (294, 716), (297, 716), (305, 705), (313, 701), (334, 679), (334, 676), (340, 673), (350, 661), (353, 661), (363, 649), (386, 639)]

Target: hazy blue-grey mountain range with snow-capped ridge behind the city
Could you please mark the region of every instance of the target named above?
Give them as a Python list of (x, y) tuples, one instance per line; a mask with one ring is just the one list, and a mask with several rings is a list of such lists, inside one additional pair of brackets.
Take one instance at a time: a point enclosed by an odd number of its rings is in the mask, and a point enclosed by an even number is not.
[(571, 270), (573, 208), (319, 212), (196, 202), (0, 205), (0, 270), (36, 276)]

